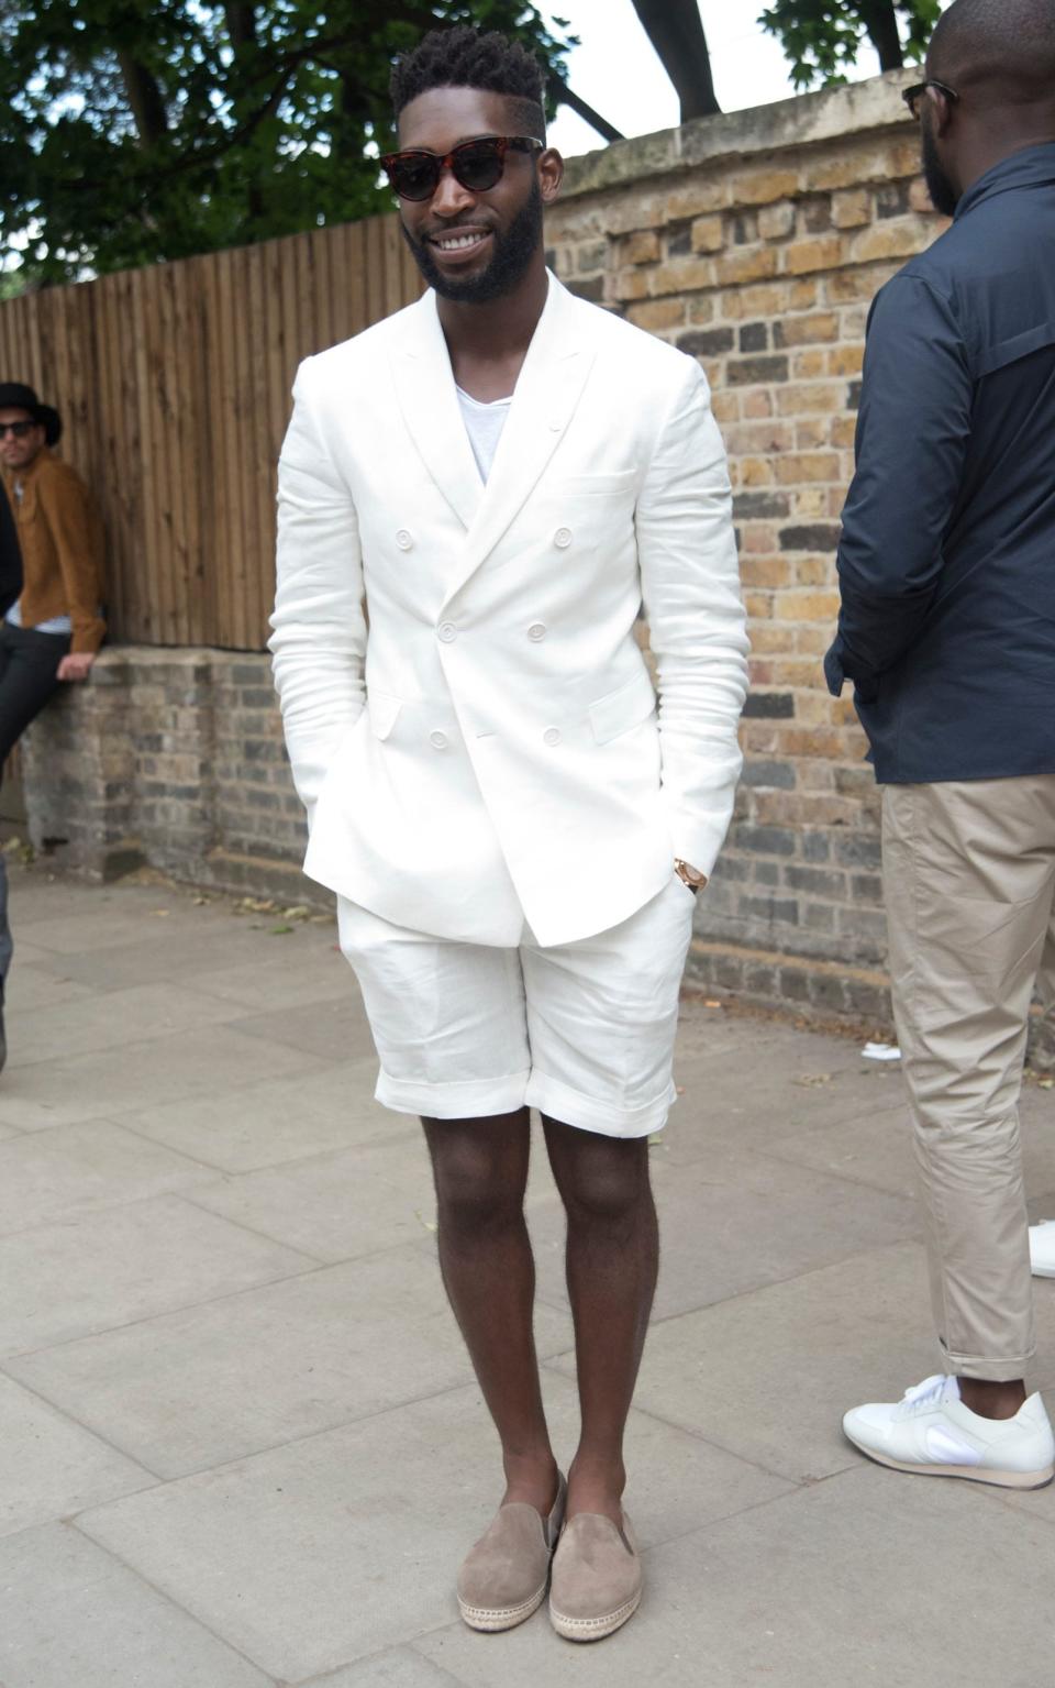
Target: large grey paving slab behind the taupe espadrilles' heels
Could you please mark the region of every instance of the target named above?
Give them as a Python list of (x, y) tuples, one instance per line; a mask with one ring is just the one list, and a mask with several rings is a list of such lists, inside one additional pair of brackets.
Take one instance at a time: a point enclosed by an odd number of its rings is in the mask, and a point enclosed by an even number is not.
[[(554, 1408), (560, 1438), (572, 1391)], [(687, 1492), (699, 1516), (707, 1502), (738, 1509), (775, 1492), (765, 1474), (662, 1425), (635, 1423), (630, 1442), (643, 1539), (684, 1523)], [(457, 1565), (500, 1489), (495, 1436), (466, 1388), (78, 1523), (265, 1671), (299, 1681), (456, 1617)]]

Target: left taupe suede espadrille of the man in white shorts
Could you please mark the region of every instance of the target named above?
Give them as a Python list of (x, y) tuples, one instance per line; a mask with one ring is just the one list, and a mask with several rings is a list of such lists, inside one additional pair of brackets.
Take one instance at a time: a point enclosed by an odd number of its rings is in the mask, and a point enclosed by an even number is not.
[(457, 1605), (469, 1629), (515, 1629), (538, 1610), (550, 1580), (565, 1499), (567, 1484), (559, 1475), (549, 1518), (527, 1501), (498, 1507), (495, 1523), (469, 1548), (457, 1573)]

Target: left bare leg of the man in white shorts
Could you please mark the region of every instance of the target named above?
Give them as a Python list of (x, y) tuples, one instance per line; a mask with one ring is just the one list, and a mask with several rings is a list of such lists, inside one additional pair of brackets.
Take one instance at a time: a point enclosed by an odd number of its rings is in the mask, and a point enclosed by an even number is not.
[(503, 1501), (547, 1514), (557, 1497), (532, 1332), (535, 1261), (523, 1219), (530, 1116), (422, 1119), (432, 1156), (439, 1264), (501, 1440)]

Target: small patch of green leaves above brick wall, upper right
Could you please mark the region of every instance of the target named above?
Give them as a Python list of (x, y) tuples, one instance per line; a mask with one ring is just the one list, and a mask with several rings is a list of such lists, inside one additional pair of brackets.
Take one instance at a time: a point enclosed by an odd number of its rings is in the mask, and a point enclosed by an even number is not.
[(922, 59), (940, 15), (940, 0), (773, 0), (760, 24), (780, 41), (795, 88), (832, 88), (866, 41), (885, 71)]

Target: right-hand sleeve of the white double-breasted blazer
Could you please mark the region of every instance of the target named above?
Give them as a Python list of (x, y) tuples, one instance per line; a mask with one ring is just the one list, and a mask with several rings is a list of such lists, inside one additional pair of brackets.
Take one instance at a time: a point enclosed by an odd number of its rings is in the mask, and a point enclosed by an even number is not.
[(697, 363), (658, 430), (635, 520), (674, 854), (709, 874), (743, 766), (749, 647), (726, 449)]

